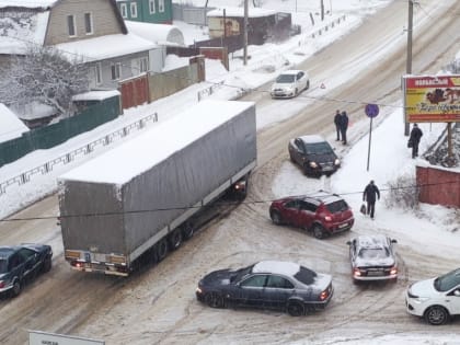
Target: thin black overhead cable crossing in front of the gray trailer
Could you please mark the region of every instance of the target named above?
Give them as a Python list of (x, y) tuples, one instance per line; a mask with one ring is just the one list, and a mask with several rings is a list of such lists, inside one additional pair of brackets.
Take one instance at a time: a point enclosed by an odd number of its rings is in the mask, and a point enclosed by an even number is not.
[[(401, 189), (419, 189), (423, 187), (433, 187), (438, 185), (446, 185), (446, 184), (456, 184), (457, 181), (446, 181), (439, 183), (427, 183), (427, 184), (415, 184), (409, 186), (400, 186), (400, 187), (389, 187), (389, 188), (380, 188), (380, 193), (382, 192), (392, 192), (392, 191), (401, 191)], [(356, 195), (363, 194), (363, 191), (359, 192), (347, 192), (341, 193), (341, 196), (344, 195)], [(323, 195), (323, 194), (322, 194)], [(326, 194), (326, 196), (336, 196), (337, 194), (331, 193)], [(294, 197), (302, 197), (302, 196), (310, 196), (314, 197), (315, 193), (306, 194), (306, 195), (297, 195)], [(254, 204), (267, 204), (278, 200), (280, 198), (275, 199), (266, 199), (266, 200), (251, 200), (251, 202), (216, 202), (211, 205), (206, 206), (183, 206), (183, 207), (165, 207), (165, 208), (154, 208), (154, 209), (139, 209), (139, 210), (128, 210), (128, 211), (107, 211), (107, 212), (92, 212), (92, 214), (74, 214), (74, 215), (59, 215), (59, 216), (47, 216), (47, 217), (30, 217), (30, 218), (9, 218), (9, 219), (0, 219), (0, 222), (13, 222), (13, 221), (32, 221), (32, 220), (47, 220), (47, 219), (64, 219), (64, 218), (90, 218), (90, 217), (108, 217), (108, 216), (117, 216), (117, 215), (136, 215), (136, 214), (150, 214), (150, 212), (160, 212), (160, 211), (170, 211), (170, 210), (186, 210), (186, 209), (197, 209), (197, 208), (212, 208), (212, 207), (220, 207), (220, 206), (231, 206), (231, 205), (254, 205)]]

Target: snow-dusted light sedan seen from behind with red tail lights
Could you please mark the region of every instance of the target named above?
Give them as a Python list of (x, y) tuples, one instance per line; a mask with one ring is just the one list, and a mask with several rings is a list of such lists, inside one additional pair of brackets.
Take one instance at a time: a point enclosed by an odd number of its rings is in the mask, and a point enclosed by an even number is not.
[(384, 234), (358, 235), (348, 241), (353, 281), (398, 279), (396, 240)]

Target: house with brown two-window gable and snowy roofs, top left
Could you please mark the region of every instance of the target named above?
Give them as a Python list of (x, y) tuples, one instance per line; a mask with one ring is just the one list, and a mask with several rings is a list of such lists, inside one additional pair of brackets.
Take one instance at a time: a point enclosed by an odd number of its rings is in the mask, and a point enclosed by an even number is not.
[(53, 46), (90, 66), (92, 89), (149, 70), (151, 41), (129, 33), (115, 0), (1, 0), (0, 64), (23, 56), (28, 45)]

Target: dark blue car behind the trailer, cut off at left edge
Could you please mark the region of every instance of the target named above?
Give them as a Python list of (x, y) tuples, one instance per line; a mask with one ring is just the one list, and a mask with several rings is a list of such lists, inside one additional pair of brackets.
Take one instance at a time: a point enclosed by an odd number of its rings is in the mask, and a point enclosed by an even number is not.
[(53, 250), (47, 244), (0, 246), (0, 294), (21, 294), (24, 284), (51, 269)]

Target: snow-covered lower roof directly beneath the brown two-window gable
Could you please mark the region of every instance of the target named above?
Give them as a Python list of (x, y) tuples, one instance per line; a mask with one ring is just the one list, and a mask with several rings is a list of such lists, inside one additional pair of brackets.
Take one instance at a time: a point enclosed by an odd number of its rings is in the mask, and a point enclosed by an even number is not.
[(55, 45), (69, 60), (80, 62), (100, 61), (117, 56), (147, 51), (157, 47), (156, 44), (128, 33), (101, 36), (95, 38), (61, 43)]

